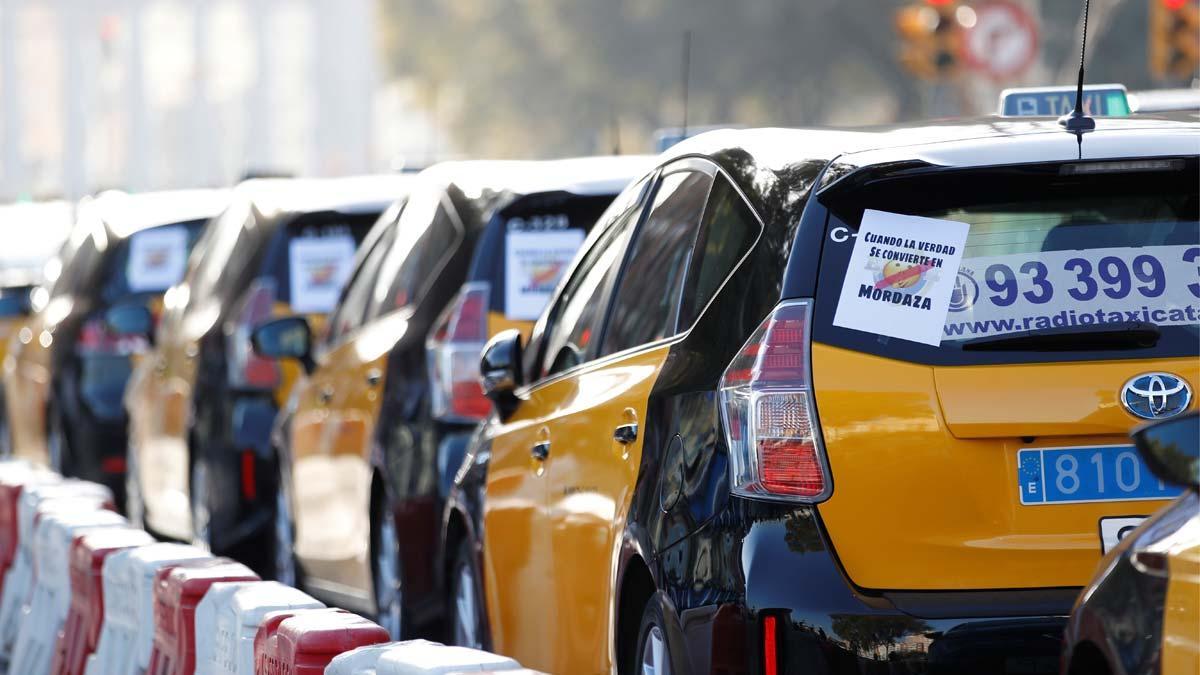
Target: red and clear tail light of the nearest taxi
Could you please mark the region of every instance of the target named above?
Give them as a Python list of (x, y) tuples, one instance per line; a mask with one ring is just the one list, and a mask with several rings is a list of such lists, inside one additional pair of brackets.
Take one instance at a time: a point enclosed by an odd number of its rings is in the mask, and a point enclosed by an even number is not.
[(780, 304), (721, 376), (736, 494), (817, 502), (832, 488), (812, 406), (809, 300)]

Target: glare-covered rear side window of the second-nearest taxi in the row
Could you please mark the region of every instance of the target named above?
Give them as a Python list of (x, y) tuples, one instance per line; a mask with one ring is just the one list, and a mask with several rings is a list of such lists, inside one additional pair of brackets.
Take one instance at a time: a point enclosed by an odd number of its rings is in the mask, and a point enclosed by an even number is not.
[(462, 227), (443, 196), (440, 186), (409, 193), (395, 245), (379, 271), (368, 318), (419, 303), (458, 247)]

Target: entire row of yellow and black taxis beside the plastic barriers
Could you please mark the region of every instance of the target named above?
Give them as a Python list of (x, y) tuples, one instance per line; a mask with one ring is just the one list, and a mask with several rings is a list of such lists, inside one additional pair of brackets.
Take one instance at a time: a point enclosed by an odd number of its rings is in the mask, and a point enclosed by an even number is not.
[(1200, 669), (1194, 117), (103, 195), (55, 264), (13, 452), (396, 638)]

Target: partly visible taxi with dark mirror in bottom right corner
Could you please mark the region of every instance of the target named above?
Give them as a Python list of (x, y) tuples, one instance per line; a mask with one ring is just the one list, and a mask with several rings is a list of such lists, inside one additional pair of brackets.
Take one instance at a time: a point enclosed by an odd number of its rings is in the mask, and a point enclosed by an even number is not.
[(1184, 491), (1123, 525), (1072, 611), (1063, 675), (1200, 673), (1200, 413), (1152, 423), (1134, 440), (1154, 477)]

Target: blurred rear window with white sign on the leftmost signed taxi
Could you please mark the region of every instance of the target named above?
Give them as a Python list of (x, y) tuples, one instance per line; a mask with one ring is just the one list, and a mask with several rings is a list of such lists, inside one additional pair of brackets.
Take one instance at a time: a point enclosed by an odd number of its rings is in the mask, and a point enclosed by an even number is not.
[(178, 283), (204, 222), (151, 227), (122, 240), (107, 262), (101, 298), (114, 303), (132, 293), (162, 293)]

